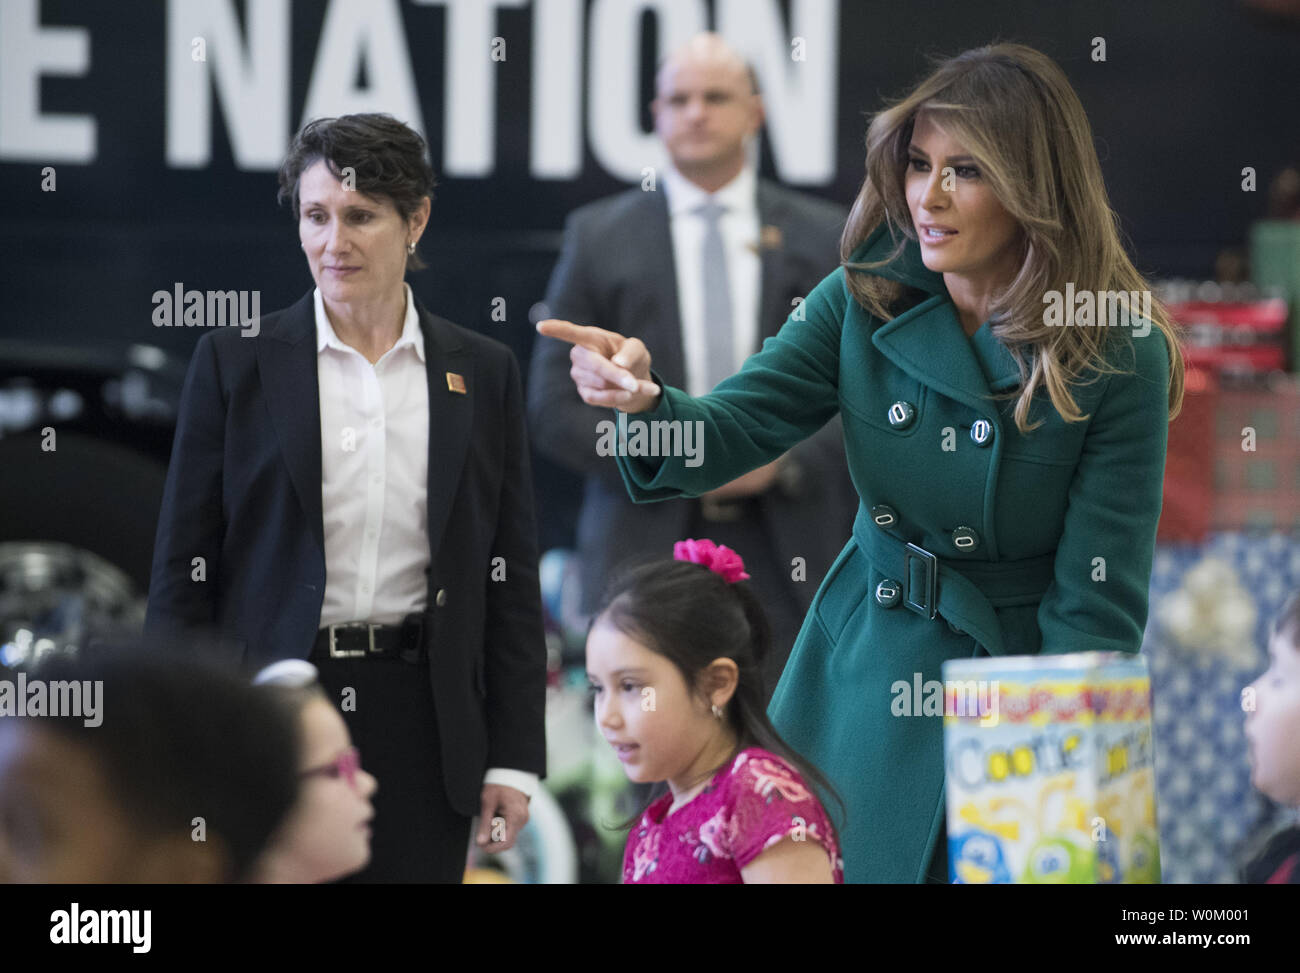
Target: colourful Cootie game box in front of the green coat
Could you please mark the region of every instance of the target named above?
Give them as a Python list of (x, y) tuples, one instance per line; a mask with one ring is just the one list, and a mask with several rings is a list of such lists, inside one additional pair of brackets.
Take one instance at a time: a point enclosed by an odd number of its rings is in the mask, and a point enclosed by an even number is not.
[(1141, 656), (944, 663), (952, 881), (1160, 882)]

